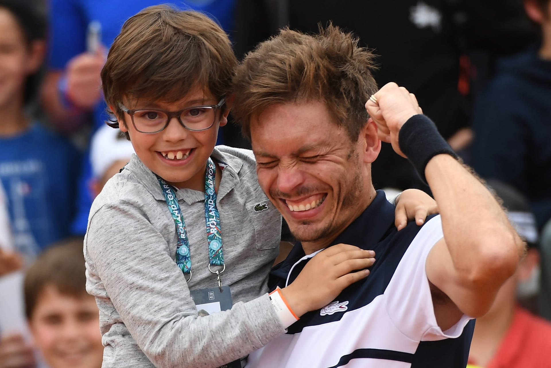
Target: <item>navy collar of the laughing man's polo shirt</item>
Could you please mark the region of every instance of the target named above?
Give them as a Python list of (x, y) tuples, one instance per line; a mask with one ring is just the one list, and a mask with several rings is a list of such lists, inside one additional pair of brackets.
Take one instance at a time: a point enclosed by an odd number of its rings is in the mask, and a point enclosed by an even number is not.
[[(361, 213), (360, 216), (348, 225), (340, 233), (329, 247), (339, 243), (352, 244), (362, 249), (374, 249), (395, 220), (395, 206), (386, 200), (385, 192), (377, 190), (377, 195), (371, 204)], [(272, 275), (287, 279), (287, 275), (293, 265), (302, 257), (305, 257), (302, 244), (297, 242), (289, 255), (282, 263), (274, 266)]]

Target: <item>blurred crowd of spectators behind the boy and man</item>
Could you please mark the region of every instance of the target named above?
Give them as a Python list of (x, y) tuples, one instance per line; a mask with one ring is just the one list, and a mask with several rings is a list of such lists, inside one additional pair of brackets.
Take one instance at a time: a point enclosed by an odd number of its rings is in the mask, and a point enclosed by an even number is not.
[[(533, 344), (551, 340), (544, 321), (551, 320), (549, 2), (170, 3), (217, 20), (239, 58), (283, 26), (310, 33), (328, 22), (373, 50), (377, 83), (394, 81), (417, 96), (452, 148), (503, 199), (530, 246), (494, 308), (477, 321), (471, 349), (475, 366), (530, 368), (534, 354), (551, 361), (549, 350)], [(105, 125), (100, 70), (123, 22), (159, 3), (0, 0), (0, 368), (81, 366), (82, 356), (83, 367), (101, 365), (97, 309), (72, 249), (82, 250), (91, 202), (132, 145)], [(249, 148), (232, 124), (218, 143)], [(372, 176), (376, 189), (429, 191), (390, 146), (383, 145)], [(24, 292), (13, 287), (18, 282)], [(13, 308), (30, 329), (14, 323)]]

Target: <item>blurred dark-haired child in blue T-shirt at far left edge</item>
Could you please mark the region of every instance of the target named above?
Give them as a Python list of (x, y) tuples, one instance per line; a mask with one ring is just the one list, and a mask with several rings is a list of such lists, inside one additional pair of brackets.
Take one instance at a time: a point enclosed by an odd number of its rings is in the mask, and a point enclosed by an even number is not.
[(78, 153), (25, 114), (45, 51), (45, 19), (26, 1), (0, 0), (0, 180), (14, 248), (32, 262), (68, 234)]

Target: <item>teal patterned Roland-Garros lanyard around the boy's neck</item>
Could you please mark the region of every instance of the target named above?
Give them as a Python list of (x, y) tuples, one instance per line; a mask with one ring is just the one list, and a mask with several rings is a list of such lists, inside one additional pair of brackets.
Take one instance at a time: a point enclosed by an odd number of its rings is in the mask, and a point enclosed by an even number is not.
[[(216, 167), (214, 162), (209, 157), (207, 161), (207, 169), (205, 170), (205, 223), (207, 225), (207, 241), (208, 241), (208, 269), (213, 274), (217, 274), (218, 287), (222, 289), (222, 279), (220, 274), (226, 269), (224, 264), (224, 254), (222, 251), (222, 233), (220, 232), (220, 215), (216, 207), (216, 189), (215, 185)], [(190, 242), (187, 238), (186, 224), (183, 221), (180, 204), (176, 199), (176, 193), (172, 186), (165, 180), (157, 177), (163, 194), (165, 195), (166, 204), (169, 207), (170, 214), (176, 225), (178, 233), (178, 244), (176, 246), (176, 264), (180, 267), (183, 273), (190, 274), (191, 280), (191, 253)], [(213, 271), (210, 266), (224, 266), (222, 271)]]

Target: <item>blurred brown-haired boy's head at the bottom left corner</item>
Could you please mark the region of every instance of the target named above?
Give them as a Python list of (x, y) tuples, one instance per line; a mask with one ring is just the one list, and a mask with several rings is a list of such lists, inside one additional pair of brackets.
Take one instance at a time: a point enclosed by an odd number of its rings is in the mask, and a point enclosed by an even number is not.
[(99, 313), (86, 292), (82, 238), (47, 249), (25, 275), (25, 314), (50, 368), (100, 368)]

